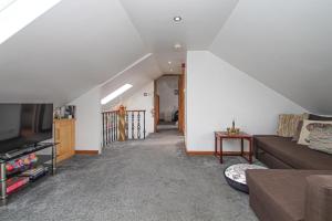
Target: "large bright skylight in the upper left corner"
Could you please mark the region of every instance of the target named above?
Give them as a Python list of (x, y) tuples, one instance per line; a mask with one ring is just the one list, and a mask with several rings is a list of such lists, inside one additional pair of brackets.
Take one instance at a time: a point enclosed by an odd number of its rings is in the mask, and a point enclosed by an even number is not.
[(0, 0), (0, 44), (62, 0)]

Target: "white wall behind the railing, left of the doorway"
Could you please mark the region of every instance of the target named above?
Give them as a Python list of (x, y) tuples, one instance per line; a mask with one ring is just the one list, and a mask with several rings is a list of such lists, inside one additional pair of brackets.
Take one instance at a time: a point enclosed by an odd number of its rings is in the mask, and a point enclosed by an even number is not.
[[(147, 93), (147, 96), (144, 96), (144, 93)], [(128, 110), (145, 109), (146, 136), (151, 133), (154, 133), (154, 116), (152, 114), (152, 110), (154, 108), (154, 82), (151, 82), (149, 84), (137, 91), (133, 96), (124, 101), (123, 105), (126, 106)]]

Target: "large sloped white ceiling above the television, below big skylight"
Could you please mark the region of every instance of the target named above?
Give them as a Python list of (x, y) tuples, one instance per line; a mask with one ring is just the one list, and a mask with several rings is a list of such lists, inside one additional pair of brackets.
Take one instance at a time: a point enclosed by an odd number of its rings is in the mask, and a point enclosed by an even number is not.
[(0, 45), (0, 102), (64, 104), (146, 53), (118, 0), (63, 0)]

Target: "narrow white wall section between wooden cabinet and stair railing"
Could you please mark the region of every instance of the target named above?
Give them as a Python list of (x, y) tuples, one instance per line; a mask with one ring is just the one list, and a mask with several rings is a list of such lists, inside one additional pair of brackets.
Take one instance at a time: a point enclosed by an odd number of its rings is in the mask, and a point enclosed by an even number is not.
[(97, 150), (102, 144), (101, 88), (95, 87), (70, 103), (76, 106), (75, 150)]

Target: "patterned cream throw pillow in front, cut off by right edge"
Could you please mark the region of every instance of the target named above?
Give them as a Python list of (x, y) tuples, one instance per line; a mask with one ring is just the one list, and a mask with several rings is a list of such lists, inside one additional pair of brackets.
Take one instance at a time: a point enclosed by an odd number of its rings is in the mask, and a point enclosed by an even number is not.
[(332, 155), (332, 124), (319, 124), (309, 135), (309, 148)]

